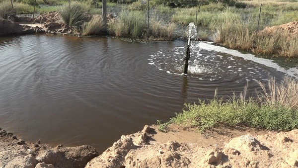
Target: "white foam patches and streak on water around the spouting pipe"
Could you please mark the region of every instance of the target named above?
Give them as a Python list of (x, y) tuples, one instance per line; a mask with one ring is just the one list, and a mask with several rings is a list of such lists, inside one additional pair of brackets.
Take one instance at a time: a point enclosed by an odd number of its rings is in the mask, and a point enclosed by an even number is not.
[[(228, 81), (264, 81), (269, 75), (285, 73), (298, 78), (298, 69), (286, 70), (271, 60), (256, 58), (252, 54), (242, 54), (236, 50), (226, 49), (212, 45), (208, 42), (192, 42), (190, 46), (189, 76), (202, 80), (228, 80)], [(169, 74), (183, 72), (186, 48), (177, 46), (168, 50), (158, 51), (149, 64)]]

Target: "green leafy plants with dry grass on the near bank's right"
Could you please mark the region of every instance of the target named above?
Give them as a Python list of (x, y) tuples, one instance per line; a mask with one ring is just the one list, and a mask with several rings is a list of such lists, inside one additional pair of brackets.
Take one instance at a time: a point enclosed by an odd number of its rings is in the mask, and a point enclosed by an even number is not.
[[(257, 92), (257, 99), (245, 98), (246, 87), (244, 94), (234, 95), (226, 101), (214, 98), (208, 104), (202, 100), (198, 104), (185, 104), (183, 112), (169, 122), (197, 127), (200, 132), (219, 123), (281, 131), (297, 129), (298, 81), (285, 77), (278, 84), (271, 77), (268, 84), (259, 84), (263, 92)], [(162, 125), (162, 129), (167, 124)]]

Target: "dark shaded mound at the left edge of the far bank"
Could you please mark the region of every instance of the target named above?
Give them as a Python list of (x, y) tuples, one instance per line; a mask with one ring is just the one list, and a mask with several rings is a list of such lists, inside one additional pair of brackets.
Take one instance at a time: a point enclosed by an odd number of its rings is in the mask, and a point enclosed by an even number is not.
[(21, 34), (24, 28), (17, 22), (0, 19), (0, 35), (4, 34)]

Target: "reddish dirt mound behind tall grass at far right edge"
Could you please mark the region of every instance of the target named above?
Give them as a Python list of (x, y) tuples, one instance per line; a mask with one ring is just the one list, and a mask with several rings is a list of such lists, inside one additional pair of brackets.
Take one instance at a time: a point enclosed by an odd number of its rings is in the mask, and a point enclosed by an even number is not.
[(284, 31), (290, 34), (298, 34), (298, 21), (293, 21), (290, 23), (278, 25), (278, 26), (271, 26), (266, 27), (261, 32), (275, 32), (275, 31)]

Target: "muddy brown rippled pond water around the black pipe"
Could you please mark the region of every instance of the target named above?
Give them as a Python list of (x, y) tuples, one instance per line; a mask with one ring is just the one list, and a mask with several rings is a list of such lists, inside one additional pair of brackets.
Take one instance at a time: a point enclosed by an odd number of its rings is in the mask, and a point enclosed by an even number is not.
[(26, 141), (91, 145), (101, 153), (123, 134), (168, 121), (185, 102), (258, 89), (285, 75), (194, 42), (131, 43), (106, 37), (0, 37), (0, 126)]

